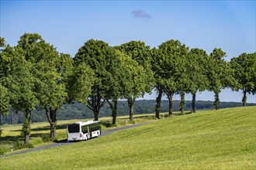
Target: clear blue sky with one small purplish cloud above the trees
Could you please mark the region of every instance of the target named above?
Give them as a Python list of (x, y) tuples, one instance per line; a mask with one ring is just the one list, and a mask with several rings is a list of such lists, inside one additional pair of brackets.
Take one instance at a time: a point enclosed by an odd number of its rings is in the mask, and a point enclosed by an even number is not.
[[(74, 56), (88, 39), (110, 46), (130, 40), (153, 48), (178, 39), (189, 48), (214, 48), (227, 60), (254, 53), (255, 1), (2, 1), (0, 36), (16, 46), (25, 32), (37, 32), (61, 53)], [(155, 99), (155, 93), (146, 95)], [(220, 100), (240, 101), (241, 92), (223, 90)], [(175, 99), (178, 99), (175, 96)], [(186, 95), (186, 100), (191, 100)], [(212, 92), (198, 100), (213, 100)], [(248, 102), (256, 102), (249, 95)]]

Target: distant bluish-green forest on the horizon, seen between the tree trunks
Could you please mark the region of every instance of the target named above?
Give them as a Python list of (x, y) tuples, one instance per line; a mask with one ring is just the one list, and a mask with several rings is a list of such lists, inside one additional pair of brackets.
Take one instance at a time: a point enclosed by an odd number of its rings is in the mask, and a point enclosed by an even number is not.
[[(134, 114), (153, 114), (155, 113), (155, 100), (137, 100), (134, 105)], [(180, 100), (174, 100), (173, 109), (179, 111)], [(220, 102), (220, 108), (227, 107), (242, 107), (240, 102)], [(247, 104), (247, 106), (256, 106), (256, 104)], [(161, 112), (168, 112), (168, 100), (161, 101)], [(197, 110), (209, 110), (215, 109), (213, 101), (196, 101)], [(118, 115), (117, 116), (129, 116), (129, 108), (126, 100), (118, 101)], [(185, 110), (192, 110), (192, 101), (185, 101)], [(111, 109), (109, 104), (102, 107), (99, 113), (99, 117), (111, 117)], [(12, 110), (9, 115), (0, 115), (1, 124), (22, 124), (24, 114), (19, 112), (14, 113)], [(35, 110), (32, 115), (32, 122), (47, 121), (47, 116), (44, 110)], [(89, 110), (87, 106), (81, 103), (75, 102), (74, 104), (64, 104), (64, 106), (57, 110), (57, 120), (71, 120), (71, 119), (85, 119), (94, 118), (92, 110)]]

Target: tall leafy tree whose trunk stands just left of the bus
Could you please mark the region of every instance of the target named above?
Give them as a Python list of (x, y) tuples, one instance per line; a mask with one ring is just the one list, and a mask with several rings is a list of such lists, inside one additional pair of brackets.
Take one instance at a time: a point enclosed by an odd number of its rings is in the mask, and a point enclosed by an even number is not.
[[(36, 76), (36, 98), (40, 101), (38, 109), (46, 111), (50, 124), (50, 138), (56, 138), (56, 113), (67, 98), (67, 91), (61, 73), (59, 53), (37, 33), (25, 33), (20, 37), (18, 47), (26, 52), (26, 60), (33, 64), (33, 75)], [(63, 63), (63, 62), (62, 62)]]

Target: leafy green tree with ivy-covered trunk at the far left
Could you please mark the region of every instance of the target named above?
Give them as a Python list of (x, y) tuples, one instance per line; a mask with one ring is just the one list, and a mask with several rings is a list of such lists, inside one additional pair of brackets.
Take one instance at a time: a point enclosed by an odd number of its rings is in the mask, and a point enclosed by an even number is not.
[[(19, 48), (7, 46), (1, 55), (1, 83), (8, 87), (10, 93), (10, 104), (16, 111), (22, 111), (25, 115), (22, 134), (25, 144), (29, 143), (31, 111), (35, 109), (36, 78), (33, 76), (33, 65), (25, 59), (25, 52)], [(4, 70), (2, 70), (4, 69)]]

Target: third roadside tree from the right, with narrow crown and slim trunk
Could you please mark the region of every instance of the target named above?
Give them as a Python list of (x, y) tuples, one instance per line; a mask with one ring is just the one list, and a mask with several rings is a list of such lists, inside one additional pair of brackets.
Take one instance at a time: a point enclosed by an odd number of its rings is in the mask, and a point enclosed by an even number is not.
[(187, 75), (189, 76), (189, 91), (192, 93), (192, 111), (195, 113), (196, 92), (202, 92), (209, 87), (206, 65), (208, 55), (203, 49), (191, 49), (187, 61)]

